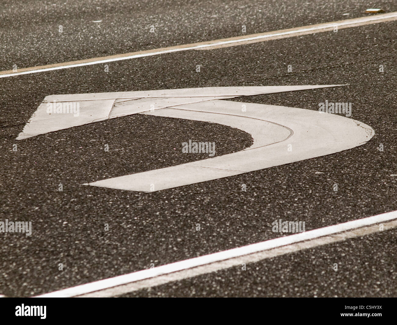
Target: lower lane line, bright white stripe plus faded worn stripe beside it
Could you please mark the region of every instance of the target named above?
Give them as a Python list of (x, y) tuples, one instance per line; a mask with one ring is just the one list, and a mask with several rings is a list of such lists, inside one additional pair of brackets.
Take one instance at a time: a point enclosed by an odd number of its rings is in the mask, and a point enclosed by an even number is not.
[(241, 265), (241, 263), (257, 262), (265, 258), (297, 252), (310, 247), (380, 232), (382, 230), (380, 230), (380, 225), (377, 225), (379, 223), (384, 223), (383, 231), (397, 227), (397, 211), (265, 240), (247, 246), (49, 292), (36, 297), (104, 297), (121, 295), (141, 288), (153, 287), (171, 281), (178, 281), (200, 274), (226, 269), (235, 265)]

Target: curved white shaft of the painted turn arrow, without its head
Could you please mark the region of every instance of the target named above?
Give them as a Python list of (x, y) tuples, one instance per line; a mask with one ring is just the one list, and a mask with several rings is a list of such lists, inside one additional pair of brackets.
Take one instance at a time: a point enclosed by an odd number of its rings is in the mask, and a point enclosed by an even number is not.
[[(242, 104), (246, 105), (246, 112), (241, 111)], [(154, 192), (333, 154), (365, 144), (375, 134), (370, 126), (340, 115), (225, 100), (179, 105), (145, 114), (237, 127), (250, 133), (254, 144), (232, 154), (84, 185)]]

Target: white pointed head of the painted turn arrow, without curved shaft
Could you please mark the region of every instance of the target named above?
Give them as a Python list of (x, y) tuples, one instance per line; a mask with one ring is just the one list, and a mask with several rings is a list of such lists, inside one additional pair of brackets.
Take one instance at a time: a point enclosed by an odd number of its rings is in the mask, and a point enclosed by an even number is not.
[[(16, 139), (22, 140), (106, 119), (206, 100), (337, 86), (343, 85), (204, 87), (50, 95), (44, 98)], [(70, 113), (70, 107), (77, 103), (79, 115), (75, 116), (76, 114)], [(54, 107), (59, 108), (60, 112), (51, 112)], [(69, 108), (69, 113), (63, 113), (64, 108), (65, 111)]]

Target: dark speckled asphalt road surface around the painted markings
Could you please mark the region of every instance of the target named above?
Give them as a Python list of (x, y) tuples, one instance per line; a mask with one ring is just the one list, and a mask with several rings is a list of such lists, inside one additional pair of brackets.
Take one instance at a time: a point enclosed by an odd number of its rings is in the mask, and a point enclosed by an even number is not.
[[(242, 25), (254, 34), (328, 23), (374, 6), (397, 11), (391, 0), (12, 1), (0, 10), (0, 68), (241, 36)], [(0, 233), (0, 294), (35, 296), (290, 235), (272, 231), (278, 219), (310, 231), (397, 210), (396, 27), (146, 56), (107, 63), (108, 72), (101, 63), (0, 78), (0, 221), (32, 222), (31, 236)], [(349, 85), (230, 100), (314, 111), (325, 100), (351, 102), (348, 118), (375, 131), (364, 145), (158, 192), (81, 184), (208, 158), (182, 153), (189, 139), (216, 142), (218, 157), (248, 148), (251, 135), (137, 114), (15, 140), (52, 94), (340, 84)], [(388, 229), (117, 296), (397, 296), (396, 252)]]

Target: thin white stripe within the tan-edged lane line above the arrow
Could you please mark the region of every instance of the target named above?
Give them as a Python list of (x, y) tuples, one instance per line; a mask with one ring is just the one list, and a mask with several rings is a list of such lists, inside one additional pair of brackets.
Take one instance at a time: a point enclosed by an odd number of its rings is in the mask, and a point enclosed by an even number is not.
[(389, 14), (382, 14), (382, 15), (377, 15), (377, 16), (370, 16), (370, 17), (360, 17), (357, 19), (347, 19), (346, 21), (343, 22), (333, 22), (333, 23), (324, 23), (324, 24), (318, 24), (315, 25), (315, 27), (303, 27), (303, 28), (298, 28), (290, 31), (283, 31), (279, 33), (266, 33), (266, 35), (259, 35), (259, 36), (254, 36), (254, 37), (247, 37), (247, 38), (239, 38), (239, 39), (231, 39), (231, 40), (225, 40), (225, 41), (220, 41), (220, 42), (206, 42), (205, 44), (200, 44), (200, 45), (194, 45), (194, 46), (188, 46), (188, 47), (173, 47), (173, 48), (165, 48), (162, 50), (154, 50), (153, 52), (148, 52), (148, 53), (142, 53), (142, 54), (134, 54), (131, 56), (120, 56), (120, 57), (112, 57), (109, 59), (105, 60), (97, 60), (97, 61), (91, 61), (91, 62), (84, 62), (84, 63), (74, 63), (74, 64), (69, 64), (69, 65), (60, 65), (56, 67), (48, 67), (44, 69), (36, 69), (36, 70), (29, 70), (29, 71), (22, 71), (22, 72), (15, 72), (15, 73), (8, 73), (8, 74), (0, 74), (0, 78), (5, 78), (5, 77), (11, 77), (15, 75), (25, 75), (29, 73), (38, 73), (38, 72), (45, 72), (45, 71), (52, 71), (52, 70), (59, 70), (59, 69), (67, 69), (67, 68), (72, 68), (72, 67), (83, 67), (86, 65), (93, 65), (93, 64), (98, 64), (98, 63), (108, 63), (108, 62), (115, 62), (115, 61), (121, 61), (121, 60), (129, 60), (129, 59), (135, 59), (135, 58), (143, 58), (146, 56), (154, 56), (154, 55), (159, 55), (159, 54), (166, 54), (166, 53), (172, 53), (172, 52), (181, 52), (181, 51), (187, 51), (187, 50), (200, 50), (203, 48), (210, 48), (214, 46), (222, 46), (222, 45), (227, 45), (227, 44), (238, 44), (241, 42), (247, 42), (251, 40), (266, 40), (266, 38), (272, 38), (272, 37), (278, 37), (278, 36), (286, 36), (286, 35), (299, 35), (301, 33), (316, 33), (319, 31), (322, 31), (324, 29), (333, 29), (335, 26), (341, 27), (341, 28), (346, 28), (346, 27), (354, 27), (355, 24), (364, 24), (364, 23), (373, 23), (376, 21), (383, 21), (385, 19), (391, 19), (391, 18), (396, 18), (397, 17), (397, 12), (389, 13)]

